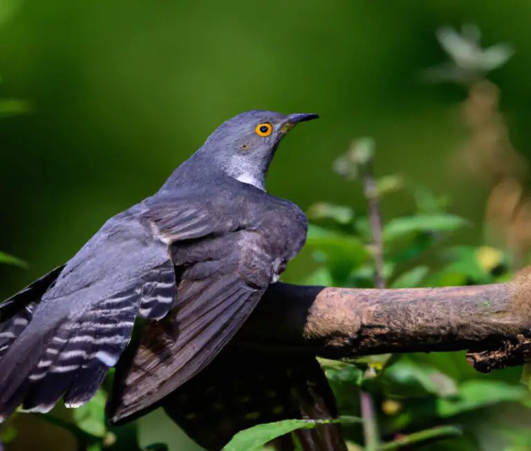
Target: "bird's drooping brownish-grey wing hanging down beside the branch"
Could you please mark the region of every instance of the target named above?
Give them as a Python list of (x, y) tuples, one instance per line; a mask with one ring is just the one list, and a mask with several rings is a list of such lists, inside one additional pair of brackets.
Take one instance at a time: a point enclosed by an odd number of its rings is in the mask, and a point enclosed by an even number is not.
[(118, 365), (110, 423), (150, 410), (203, 370), (243, 325), (273, 276), (263, 238), (246, 230), (183, 243), (175, 247), (174, 260), (186, 268), (174, 311), (148, 325)]

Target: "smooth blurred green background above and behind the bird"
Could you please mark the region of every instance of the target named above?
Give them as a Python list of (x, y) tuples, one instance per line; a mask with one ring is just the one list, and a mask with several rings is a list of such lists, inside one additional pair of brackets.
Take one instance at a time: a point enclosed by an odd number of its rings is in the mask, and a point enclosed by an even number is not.
[[(326, 200), (364, 210), (361, 190), (331, 166), (354, 137), (371, 135), (377, 173), (449, 195), (451, 212), (474, 224), (454, 241), (480, 244), (488, 190), (450, 164), (466, 90), (420, 73), (448, 60), (434, 35), (443, 25), (476, 23), (485, 45), (513, 44), (490, 79), (527, 157), (530, 14), (516, 0), (0, 0), (0, 97), (32, 105), (0, 121), (0, 249), (29, 264), (0, 267), (0, 298), (68, 260), (218, 124), (256, 108), (322, 117), (283, 142), (270, 192), (304, 209)], [(411, 199), (383, 209), (407, 212)], [(28, 421), (39, 449), (58, 449), (54, 431)], [(174, 435), (171, 425), (145, 428), (147, 443), (160, 429)]]

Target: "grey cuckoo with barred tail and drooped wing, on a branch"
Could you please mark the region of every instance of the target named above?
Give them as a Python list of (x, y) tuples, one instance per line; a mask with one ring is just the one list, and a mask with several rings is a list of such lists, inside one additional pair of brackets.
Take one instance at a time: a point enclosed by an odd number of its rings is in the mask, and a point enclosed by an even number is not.
[(317, 117), (228, 119), (159, 191), (1, 303), (0, 422), (20, 406), (45, 413), (61, 399), (90, 401), (137, 323), (148, 324), (156, 358), (136, 348), (141, 371), (120, 384), (142, 396), (121, 399), (111, 422), (152, 409), (208, 367), (306, 242), (306, 215), (265, 191), (265, 179), (283, 137)]

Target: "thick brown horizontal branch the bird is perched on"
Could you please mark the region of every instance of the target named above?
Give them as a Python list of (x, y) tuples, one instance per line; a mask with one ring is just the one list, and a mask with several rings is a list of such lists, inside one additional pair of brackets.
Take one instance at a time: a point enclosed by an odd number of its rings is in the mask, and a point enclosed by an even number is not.
[(328, 358), (467, 349), (479, 371), (531, 357), (531, 269), (473, 287), (346, 289), (278, 283), (238, 338)]

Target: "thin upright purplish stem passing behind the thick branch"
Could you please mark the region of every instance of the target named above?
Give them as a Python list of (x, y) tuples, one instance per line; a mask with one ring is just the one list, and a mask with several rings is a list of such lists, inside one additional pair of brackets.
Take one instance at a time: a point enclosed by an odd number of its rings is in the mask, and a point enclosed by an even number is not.
[[(363, 192), (369, 202), (369, 222), (371, 224), (372, 251), (374, 257), (374, 286), (385, 288), (384, 279), (384, 244), (382, 240), (382, 212), (378, 186), (373, 174), (374, 151), (371, 148), (360, 159), (360, 173), (363, 180)], [(366, 451), (380, 451), (380, 432), (378, 417), (374, 409), (373, 396), (370, 392), (360, 390), (360, 403), (363, 417), (363, 433)]]

